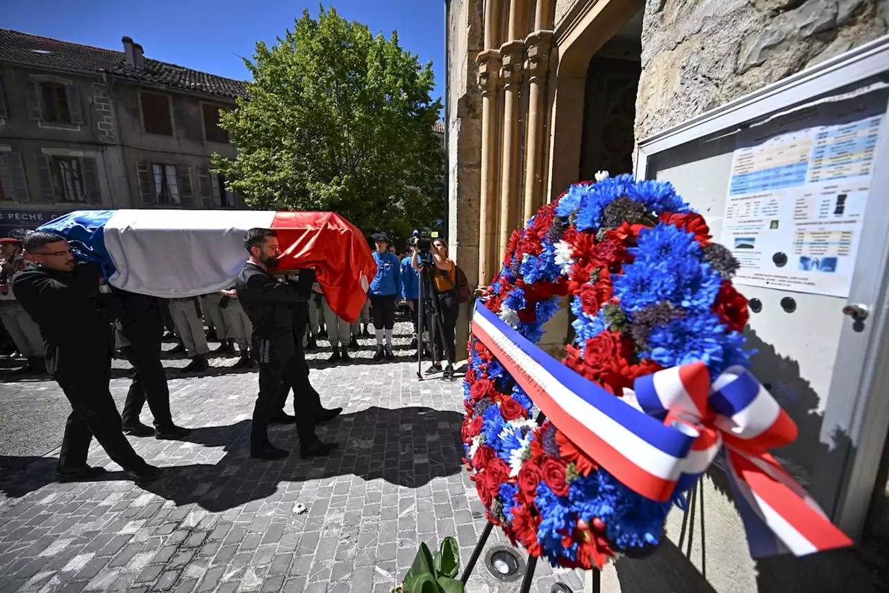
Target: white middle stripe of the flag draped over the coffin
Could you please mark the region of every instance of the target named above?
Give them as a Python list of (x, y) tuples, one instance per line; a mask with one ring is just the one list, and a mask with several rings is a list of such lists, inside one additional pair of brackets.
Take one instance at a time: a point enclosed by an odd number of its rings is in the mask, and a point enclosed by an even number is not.
[(275, 212), (118, 210), (105, 223), (117, 288), (145, 295), (198, 296), (230, 286), (247, 260), (244, 232), (270, 228)]

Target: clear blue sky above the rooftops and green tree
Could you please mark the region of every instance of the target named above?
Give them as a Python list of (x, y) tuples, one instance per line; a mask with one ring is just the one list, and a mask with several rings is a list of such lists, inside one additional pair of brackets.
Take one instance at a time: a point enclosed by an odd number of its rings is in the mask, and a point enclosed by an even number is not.
[[(318, 2), (287, 0), (0, 0), (0, 28), (56, 37), (84, 45), (123, 50), (124, 35), (145, 55), (224, 77), (246, 78), (238, 56), (250, 57), (260, 39), (271, 44), (292, 28), (304, 8), (317, 15)], [(433, 98), (445, 87), (444, 0), (337, 0), (332, 5), (386, 37), (396, 30), (402, 46), (432, 61)]]

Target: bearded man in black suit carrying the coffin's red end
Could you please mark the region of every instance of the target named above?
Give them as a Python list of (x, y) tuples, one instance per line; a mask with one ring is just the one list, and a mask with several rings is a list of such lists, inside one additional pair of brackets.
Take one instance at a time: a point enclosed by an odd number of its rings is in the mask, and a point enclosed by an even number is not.
[[(282, 459), (287, 451), (268, 442), (268, 423), (276, 412), (276, 402), (284, 382), (299, 385), (300, 365), (293, 335), (292, 306), (308, 302), (314, 274), (303, 274), (296, 282), (276, 280), (270, 270), (278, 265), (281, 248), (271, 229), (250, 229), (244, 236), (250, 260), (238, 274), (236, 291), (244, 312), (253, 324), (253, 358), (260, 365), (260, 393), (253, 408), (250, 454), (256, 459)], [(329, 454), (336, 443), (322, 443), (315, 435), (315, 414), (296, 417), (300, 437), (300, 457)]]

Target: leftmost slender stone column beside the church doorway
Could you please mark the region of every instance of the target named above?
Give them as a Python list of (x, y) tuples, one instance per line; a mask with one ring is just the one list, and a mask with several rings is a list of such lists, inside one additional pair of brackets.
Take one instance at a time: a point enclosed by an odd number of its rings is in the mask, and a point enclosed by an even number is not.
[[(493, 3), (488, 2), (489, 6)], [(487, 15), (485, 15), (487, 16)], [(490, 22), (490, 21), (488, 21)], [(488, 24), (485, 23), (485, 25)], [(487, 33), (487, 30), (485, 30)], [(485, 36), (487, 37), (487, 36)], [(478, 288), (487, 287), (498, 270), (497, 256), (497, 144), (500, 133), (498, 101), (500, 51), (486, 49), (478, 54), (478, 86), (482, 92), (481, 200), (478, 207)]]

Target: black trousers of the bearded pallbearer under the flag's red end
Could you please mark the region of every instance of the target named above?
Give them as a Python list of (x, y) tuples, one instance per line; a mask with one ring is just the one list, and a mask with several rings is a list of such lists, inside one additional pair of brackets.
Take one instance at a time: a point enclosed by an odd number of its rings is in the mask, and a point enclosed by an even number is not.
[[(260, 394), (253, 406), (253, 421), (250, 433), (250, 446), (258, 449), (268, 443), (268, 422), (279, 413), (283, 386), (300, 385), (300, 367), (295, 357), (286, 361), (265, 362), (260, 364)], [(308, 374), (307, 374), (308, 379)], [(286, 391), (284, 397), (286, 397)], [(295, 405), (294, 405), (295, 407)], [(300, 437), (300, 446), (317, 441), (315, 435), (315, 414), (298, 413), (296, 416), (296, 434)]]

